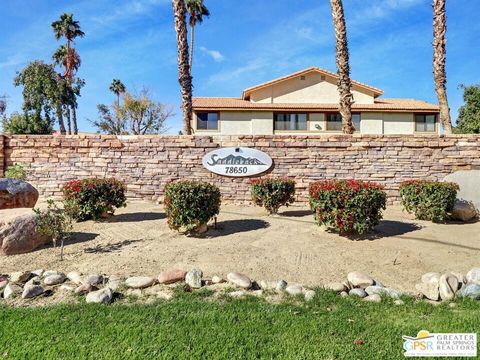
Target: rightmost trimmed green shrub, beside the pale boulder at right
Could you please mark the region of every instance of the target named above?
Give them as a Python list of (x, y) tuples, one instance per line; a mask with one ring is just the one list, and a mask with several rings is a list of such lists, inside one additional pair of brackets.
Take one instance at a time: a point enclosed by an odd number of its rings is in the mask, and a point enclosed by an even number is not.
[(419, 220), (445, 222), (455, 205), (459, 187), (455, 183), (410, 180), (400, 185), (402, 205)]

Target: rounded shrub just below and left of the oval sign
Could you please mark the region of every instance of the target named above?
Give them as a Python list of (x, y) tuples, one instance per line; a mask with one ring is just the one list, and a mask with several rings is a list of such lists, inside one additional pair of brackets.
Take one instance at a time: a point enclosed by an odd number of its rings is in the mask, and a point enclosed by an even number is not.
[(221, 194), (205, 182), (177, 181), (165, 186), (165, 211), (173, 230), (192, 231), (220, 212)]

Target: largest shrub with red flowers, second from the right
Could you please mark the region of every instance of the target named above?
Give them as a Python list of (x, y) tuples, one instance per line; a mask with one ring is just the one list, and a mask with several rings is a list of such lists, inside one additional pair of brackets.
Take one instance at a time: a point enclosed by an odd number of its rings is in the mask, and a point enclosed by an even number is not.
[(309, 202), (316, 222), (340, 234), (363, 234), (382, 219), (387, 195), (372, 182), (324, 180), (310, 185)]

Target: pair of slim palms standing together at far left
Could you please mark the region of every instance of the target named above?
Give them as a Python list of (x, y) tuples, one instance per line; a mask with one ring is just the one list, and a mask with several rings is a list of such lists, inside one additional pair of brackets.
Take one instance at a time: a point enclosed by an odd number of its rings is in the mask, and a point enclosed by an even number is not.
[[(63, 107), (67, 117), (68, 134), (78, 133), (77, 125), (77, 96), (80, 95), (80, 88), (83, 86), (83, 80), (75, 77), (78, 68), (81, 65), (80, 55), (73, 47), (75, 39), (84, 37), (85, 33), (80, 28), (80, 23), (73, 19), (73, 14), (62, 14), (60, 19), (52, 23), (52, 30), (55, 38), (60, 40), (65, 38), (65, 45), (61, 45), (52, 56), (55, 65), (64, 68), (63, 74), (59, 75), (59, 80), (66, 82), (66, 96)], [(65, 134), (65, 125), (63, 123), (62, 112), (58, 113), (58, 123), (60, 132)]]

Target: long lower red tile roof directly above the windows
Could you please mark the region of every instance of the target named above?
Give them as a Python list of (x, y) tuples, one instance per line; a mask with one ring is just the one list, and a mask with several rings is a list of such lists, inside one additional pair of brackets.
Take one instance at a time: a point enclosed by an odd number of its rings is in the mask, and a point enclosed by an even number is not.
[[(221, 97), (194, 97), (194, 110), (235, 110), (235, 111), (275, 111), (275, 110), (302, 110), (302, 111), (335, 111), (338, 104), (313, 103), (254, 103), (240, 98)], [(353, 104), (357, 111), (389, 111), (389, 112), (438, 112), (438, 105), (416, 99), (375, 99), (373, 104)]]

